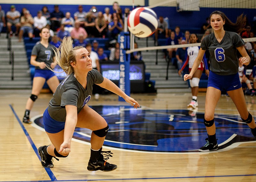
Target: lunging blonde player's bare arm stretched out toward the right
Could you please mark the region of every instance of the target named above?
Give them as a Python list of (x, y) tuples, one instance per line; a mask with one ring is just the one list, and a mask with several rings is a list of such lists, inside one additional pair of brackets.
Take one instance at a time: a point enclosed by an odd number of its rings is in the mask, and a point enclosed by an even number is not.
[[(104, 77), (104, 80), (101, 84), (97, 84), (102, 88), (108, 89), (109, 91), (115, 93), (116, 95), (119, 95), (120, 97), (124, 98), (124, 100), (131, 104), (134, 108), (140, 107), (139, 103), (134, 100), (133, 98), (126, 95), (116, 84), (114, 84), (112, 81), (110, 81), (108, 78)], [(135, 103), (135, 105), (133, 105)]]

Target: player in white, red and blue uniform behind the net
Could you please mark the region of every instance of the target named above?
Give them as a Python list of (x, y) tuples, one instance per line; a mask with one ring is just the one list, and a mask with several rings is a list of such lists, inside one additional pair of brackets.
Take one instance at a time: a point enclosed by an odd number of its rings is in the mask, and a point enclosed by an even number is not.
[[(192, 33), (190, 35), (190, 43), (192, 43), (192, 44), (196, 43), (197, 40), (198, 40), (197, 35), (195, 33)], [(188, 64), (189, 72), (191, 71), (193, 63), (198, 55), (199, 49), (200, 49), (200, 47), (198, 47), (198, 46), (188, 47), (187, 55), (185, 57), (186, 61), (183, 62), (182, 66), (178, 72), (179, 75), (181, 75), (182, 70), (187, 66), (187, 64)], [(204, 60), (204, 62), (203, 62), (203, 60)], [(201, 59), (201, 62), (199, 64), (198, 68), (196, 69), (195, 73), (193, 74), (192, 79), (189, 80), (189, 84), (190, 84), (191, 92), (192, 92), (192, 100), (188, 104), (188, 108), (196, 109), (196, 107), (198, 106), (198, 102), (197, 102), (198, 85), (199, 85), (200, 77), (202, 76), (204, 68), (205, 68), (205, 74), (208, 76), (209, 69), (208, 69), (207, 60), (206, 60), (205, 55)]]

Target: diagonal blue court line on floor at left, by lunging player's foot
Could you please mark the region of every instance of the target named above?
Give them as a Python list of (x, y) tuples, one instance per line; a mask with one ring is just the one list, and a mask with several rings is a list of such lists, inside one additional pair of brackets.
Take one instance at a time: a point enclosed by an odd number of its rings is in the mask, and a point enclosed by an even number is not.
[[(26, 128), (23, 126), (22, 122), (20, 121), (20, 118), (18, 117), (18, 115), (16, 114), (16, 112), (14, 111), (13, 107), (11, 104), (9, 104), (9, 106), (11, 107), (11, 110), (12, 110), (12, 113), (14, 114), (14, 116), (16, 117), (16, 119), (18, 120), (19, 124), (20, 124), (20, 127), (22, 128), (22, 130), (24, 131), (29, 143), (31, 144), (34, 152), (36, 153), (36, 156), (38, 157), (38, 159), (40, 160), (41, 162), (41, 157), (39, 156), (38, 154), (38, 151), (37, 151), (37, 148), (36, 148), (36, 145), (35, 143), (33, 142), (33, 140), (31, 139), (31, 137), (29, 136), (28, 134), (28, 131), (26, 130)], [(51, 181), (57, 181), (56, 177), (54, 176), (53, 172), (51, 171), (50, 168), (44, 168), (45, 171), (47, 172), (47, 174), (49, 175)], [(49, 180), (48, 180), (49, 181)]]

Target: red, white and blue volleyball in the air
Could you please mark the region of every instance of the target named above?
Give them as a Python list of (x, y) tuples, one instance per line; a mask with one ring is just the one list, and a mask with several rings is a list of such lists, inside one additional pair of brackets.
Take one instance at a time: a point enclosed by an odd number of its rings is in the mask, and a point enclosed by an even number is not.
[(157, 28), (156, 13), (145, 7), (134, 9), (127, 19), (128, 29), (136, 37), (144, 38), (152, 35)]

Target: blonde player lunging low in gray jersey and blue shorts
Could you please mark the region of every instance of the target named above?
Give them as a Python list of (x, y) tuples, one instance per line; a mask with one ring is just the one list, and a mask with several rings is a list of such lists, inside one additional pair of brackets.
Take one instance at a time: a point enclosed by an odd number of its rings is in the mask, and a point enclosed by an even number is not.
[[(41, 164), (45, 168), (52, 168), (52, 157), (67, 157), (75, 127), (81, 127), (92, 130), (87, 170), (113, 171), (117, 166), (105, 161), (108, 156), (112, 157), (112, 153), (102, 151), (108, 123), (87, 105), (92, 97), (92, 86), (97, 84), (116, 93), (134, 108), (140, 105), (99, 71), (92, 69), (89, 52), (82, 46), (73, 48), (72, 43), (71, 37), (65, 37), (56, 52), (56, 61), (68, 76), (59, 84), (44, 111), (44, 129), (52, 144), (38, 148)], [(103, 157), (102, 153), (107, 156)]]

